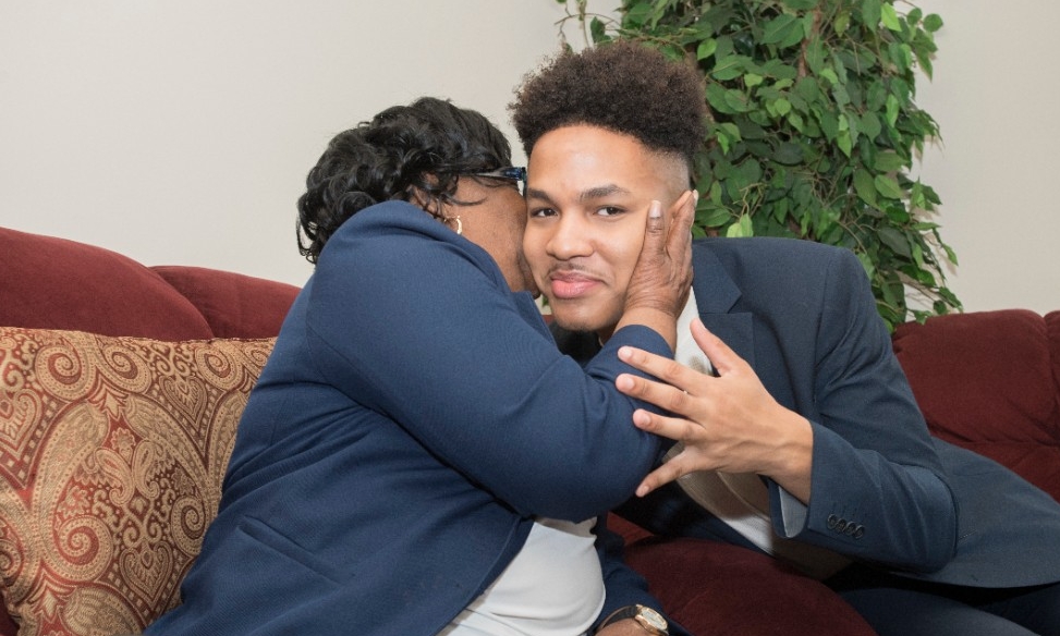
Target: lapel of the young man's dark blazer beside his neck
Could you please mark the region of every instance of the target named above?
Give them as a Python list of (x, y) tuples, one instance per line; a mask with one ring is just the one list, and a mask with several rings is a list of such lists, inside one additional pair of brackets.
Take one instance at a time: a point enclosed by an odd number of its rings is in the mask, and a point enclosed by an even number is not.
[(696, 294), (699, 319), (729, 345), (736, 355), (755, 366), (755, 340), (752, 315), (747, 311), (731, 311), (740, 301), (740, 288), (729, 278), (724, 267), (708, 249), (694, 253), (695, 278), (692, 286)]

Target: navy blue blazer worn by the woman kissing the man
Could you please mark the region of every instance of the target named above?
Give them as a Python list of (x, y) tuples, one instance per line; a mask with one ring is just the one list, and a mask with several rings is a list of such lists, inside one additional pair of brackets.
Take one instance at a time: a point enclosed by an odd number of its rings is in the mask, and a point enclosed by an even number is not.
[[(616, 350), (672, 352), (644, 327), (612, 341), (583, 370), (480, 247), (409, 204), (358, 212), (251, 394), (183, 604), (146, 633), (437, 634), (535, 516), (602, 514), (656, 461)], [(601, 565), (602, 615), (656, 604)]]

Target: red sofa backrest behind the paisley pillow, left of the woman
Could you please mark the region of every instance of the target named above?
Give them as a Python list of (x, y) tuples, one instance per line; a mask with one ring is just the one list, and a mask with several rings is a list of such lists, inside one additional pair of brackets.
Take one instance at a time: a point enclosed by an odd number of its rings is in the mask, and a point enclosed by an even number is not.
[(220, 270), (139, 262), (0, 228), (0, 325), (158, 340), (266, 338), (297, 288)]

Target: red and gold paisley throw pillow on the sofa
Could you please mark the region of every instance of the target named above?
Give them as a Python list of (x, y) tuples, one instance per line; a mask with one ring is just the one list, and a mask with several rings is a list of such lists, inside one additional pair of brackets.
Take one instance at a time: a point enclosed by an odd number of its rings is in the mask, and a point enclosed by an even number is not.
[(0, 327), (0, 577), (20, 635), (139, 632), (179, 603), (273, 343)]

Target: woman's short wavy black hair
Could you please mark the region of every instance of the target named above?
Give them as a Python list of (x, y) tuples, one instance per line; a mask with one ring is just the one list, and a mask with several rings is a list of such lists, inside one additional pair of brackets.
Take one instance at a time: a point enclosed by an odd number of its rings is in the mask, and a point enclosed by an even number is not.
[(316, 262), (328, 238), (360, 210), (413, 193), (453, 200), (460, 174), (511, 163), (504, 135), (479, 112), (422, 97), (336, 135), (298, 197), (298, 250)]

